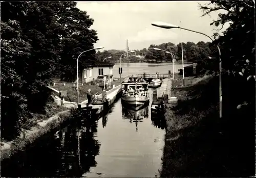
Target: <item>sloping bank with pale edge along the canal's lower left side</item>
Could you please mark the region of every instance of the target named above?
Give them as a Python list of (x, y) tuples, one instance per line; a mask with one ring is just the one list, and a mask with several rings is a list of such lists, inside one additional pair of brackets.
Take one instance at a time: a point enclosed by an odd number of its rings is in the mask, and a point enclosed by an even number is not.
[(1, 161), (10, 158), (17, 151), (24, 150), (26, 146), (33, 143), (37, 138), (55, 129), (70, 116), (70, 110), (57, 106), (57, 104), (48, 103), (45, 114), (32, 113), (33, 118), (22, 126), (19, 136), (12, 141), (1, 140)]

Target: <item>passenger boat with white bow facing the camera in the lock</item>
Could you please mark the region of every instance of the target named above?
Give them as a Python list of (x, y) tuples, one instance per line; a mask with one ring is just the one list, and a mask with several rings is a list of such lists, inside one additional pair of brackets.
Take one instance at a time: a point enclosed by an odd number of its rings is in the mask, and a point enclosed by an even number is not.
[(129, 105), (145, 105), (150, 100), (148, 83), (143, 78), (130, 77), (122, 83), (122, 101)]

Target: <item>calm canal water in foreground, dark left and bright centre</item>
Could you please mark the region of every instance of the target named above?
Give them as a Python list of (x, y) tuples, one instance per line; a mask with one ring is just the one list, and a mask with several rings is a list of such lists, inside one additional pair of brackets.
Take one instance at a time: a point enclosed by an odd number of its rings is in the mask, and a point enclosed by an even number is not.
[[(150, 89), (150, 94), (152, 90)], [(2, 162), (4, 177), (155, 177), (165, 125), (150, 104), (135, 111), (121, 99), (98, 120), (74, 122)]]

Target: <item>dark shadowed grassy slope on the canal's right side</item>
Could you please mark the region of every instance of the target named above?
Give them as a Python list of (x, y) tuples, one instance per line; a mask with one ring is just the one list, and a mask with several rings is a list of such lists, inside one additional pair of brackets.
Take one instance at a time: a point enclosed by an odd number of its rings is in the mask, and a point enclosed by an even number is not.
[(255, 106), (220, 119), (218, 82), (212, 77), (179, 89), (186, 96), (166, 109), (160, 177), (255, 175), (255, 114), (248, 114)]

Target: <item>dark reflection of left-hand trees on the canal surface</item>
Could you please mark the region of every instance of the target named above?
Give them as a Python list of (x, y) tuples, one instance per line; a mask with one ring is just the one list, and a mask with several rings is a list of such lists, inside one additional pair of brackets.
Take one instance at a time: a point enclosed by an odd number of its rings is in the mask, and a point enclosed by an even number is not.
[(97, 122), (81, 120), (76, 126), (47, 134), (27, 151), (1, 166), (5, 177), (81, 177), (97, 165), (100, 142), (95, 139)]

